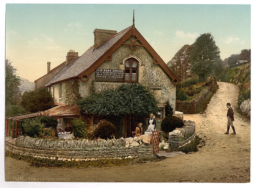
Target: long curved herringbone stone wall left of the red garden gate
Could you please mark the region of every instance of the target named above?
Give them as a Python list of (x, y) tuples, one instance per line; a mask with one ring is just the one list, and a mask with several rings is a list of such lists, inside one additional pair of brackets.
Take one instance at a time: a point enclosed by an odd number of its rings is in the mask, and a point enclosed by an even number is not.
[(6, 137), (5, 149), (24, 156), (63, 161), (154, 157), (153, 146), (150, 144), (125, 147), (125, 143), (123, 138), (90, 142), (86, 139), (51, 141), (30, 137)]

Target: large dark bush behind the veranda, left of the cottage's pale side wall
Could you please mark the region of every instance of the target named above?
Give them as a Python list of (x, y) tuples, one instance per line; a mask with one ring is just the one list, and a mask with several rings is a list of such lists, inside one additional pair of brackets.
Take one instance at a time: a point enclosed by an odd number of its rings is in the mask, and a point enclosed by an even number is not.
[(52, 108), (54, 100), (46, 88), (25, 91), (22, 95), (22, 106), (29, 112), (39, 112)]

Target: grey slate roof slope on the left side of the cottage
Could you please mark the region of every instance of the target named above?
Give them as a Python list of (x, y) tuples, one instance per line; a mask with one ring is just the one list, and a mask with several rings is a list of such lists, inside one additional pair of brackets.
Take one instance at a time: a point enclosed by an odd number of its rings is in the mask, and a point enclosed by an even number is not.
[(110, 39), (102, 42), (97, 49), (94, 50), (94, 46), (89, 48), (82, 56), (63, 68), (54, 78), (45, 84), (45, 87), (62, 80), (77, 77), (108, 51), (131, 27), (132, 26), (120, 31)]

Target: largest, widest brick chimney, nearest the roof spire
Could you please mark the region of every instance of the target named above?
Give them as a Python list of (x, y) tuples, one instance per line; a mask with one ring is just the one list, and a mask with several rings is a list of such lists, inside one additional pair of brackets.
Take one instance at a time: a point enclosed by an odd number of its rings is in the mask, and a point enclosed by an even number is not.
[(94, 29), (94, 49), (104, 42), (106, 39), (114, 36), (117, 31), (107, 29)]

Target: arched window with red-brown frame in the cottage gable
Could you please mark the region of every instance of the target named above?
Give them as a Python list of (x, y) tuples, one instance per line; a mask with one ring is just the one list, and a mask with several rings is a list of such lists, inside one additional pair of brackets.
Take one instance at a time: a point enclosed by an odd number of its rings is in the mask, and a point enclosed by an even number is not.
[(131, 57), (124, 62), (125, 82), (138, 82), (138, 61)]

